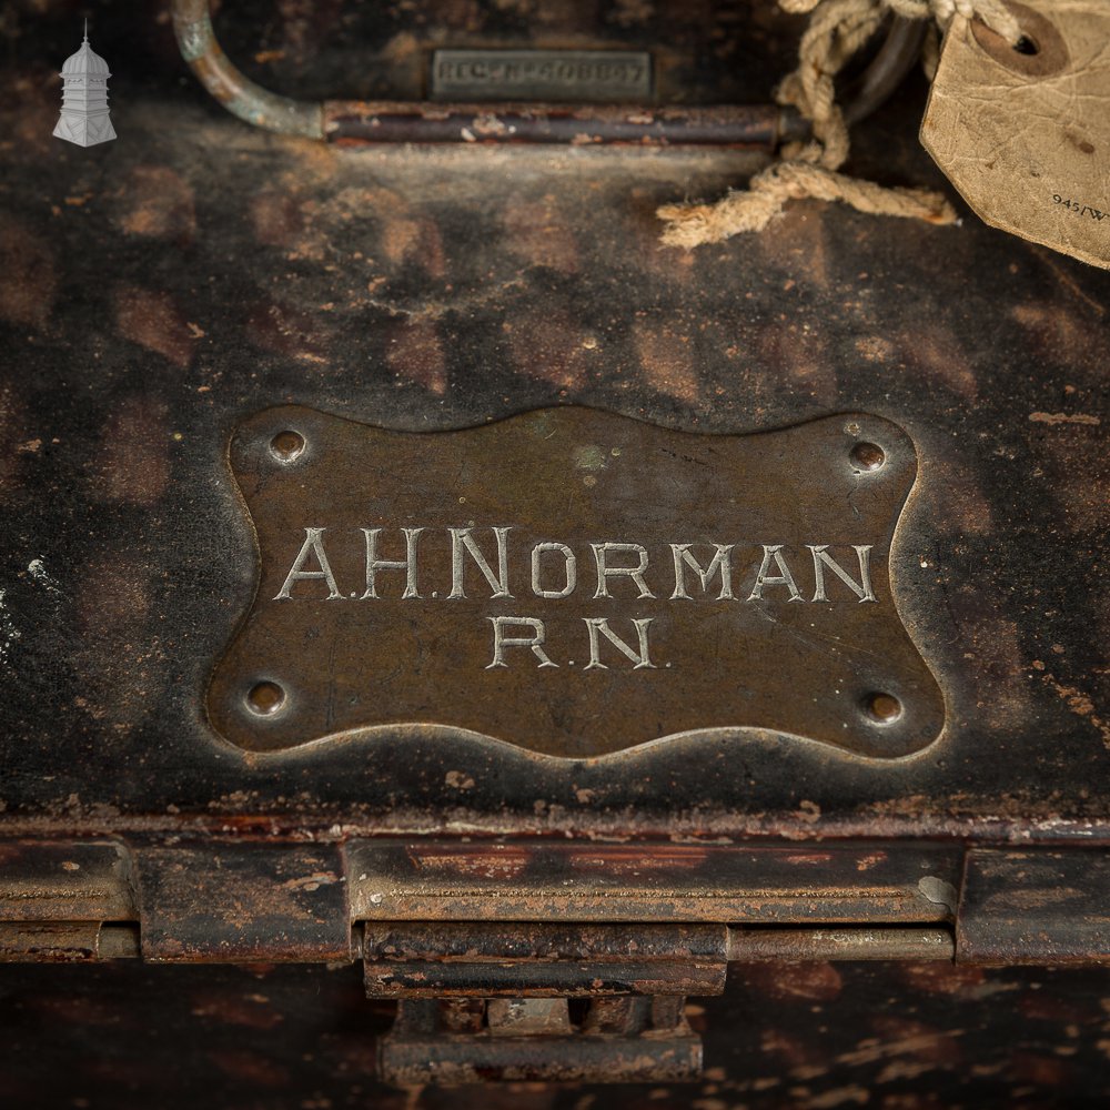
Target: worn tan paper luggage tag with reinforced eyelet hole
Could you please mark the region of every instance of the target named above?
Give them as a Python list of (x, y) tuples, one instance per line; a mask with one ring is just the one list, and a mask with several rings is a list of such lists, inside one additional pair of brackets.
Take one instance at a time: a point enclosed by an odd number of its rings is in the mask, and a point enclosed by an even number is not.
[(1110, 0), (1007, 7), (1017, 47), (952, 20), (921, 142), (987, 223), (1110, 268)]

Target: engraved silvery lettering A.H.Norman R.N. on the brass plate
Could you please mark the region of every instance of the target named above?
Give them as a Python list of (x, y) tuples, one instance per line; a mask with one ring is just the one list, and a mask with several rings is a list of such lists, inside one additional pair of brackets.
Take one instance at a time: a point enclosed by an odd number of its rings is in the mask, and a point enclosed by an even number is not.
[[(609, 539), (581, 544), (576, 551), (561, 541), (514, 545), (513, 527), (504, 525), (447, 528), (450, 559), (443, 565), (428, 565), (425, 559), (422, 565), (421, 539), (430, 532), (434, 529), (403, 527), (383, 539), (387, 529), (380, 527), (332, 533), (306, 526), (274, 601), (450, 604), (488, 597), (505, 603), (509, 612), (485, 617), (492, 626), (487, 670), (509, 666), (516, 648), (528, 649), (538, 667), (558, 667), (552, 656), (565, 659), (559, 648), (572, 650), (574, 645), (548, 643), (547, 622), (536, 606), (566, 601), (576, 593), (595, 599), (665, 598), (677, 604), (697, 598), (741, 604), (878, 602), (871, 584), (871, 544), (841, 545), (836, 556), (829, 544), (670, 543), (649, 551), (644, 544)], [(360, 545), (365, 574), (357, 583), (340, 583), (329, 546), (351, 543)], [(396, 547), (393, 557), (383, 555), (390, 543)], [(352, 585), (357, 588), (351, 589)], [(579, 655), (588, 658), (583, 669), (607, 668), (602, 660), (603, 639), (615, 649), (609, 655), (623, 657), (633, 669), (658, 666), (650, 654), (652, 617), (626, 618), (624, 626), (618, 625), (620, 630), (610, 624), (616, 617), (581, 619), (578, 646), (585, 650)]]

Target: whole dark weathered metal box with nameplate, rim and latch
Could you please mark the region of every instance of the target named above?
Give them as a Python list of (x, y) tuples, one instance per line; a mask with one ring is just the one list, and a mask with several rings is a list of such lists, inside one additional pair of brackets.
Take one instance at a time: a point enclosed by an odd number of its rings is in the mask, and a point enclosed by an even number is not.
[[(784, 124), (705, 111), (770, 100), (770, 4), (215, 17), (309, 103), (646, 57), (508, 113), (569, 144), (272, 134), (90, 14), (90, 148), (77, 9), (0, 23), (0, 1103), (1102, 1104), (1107, 275), (813, 201), (660, 246)], [(922, 101), (856, 172), (942, 186)]]

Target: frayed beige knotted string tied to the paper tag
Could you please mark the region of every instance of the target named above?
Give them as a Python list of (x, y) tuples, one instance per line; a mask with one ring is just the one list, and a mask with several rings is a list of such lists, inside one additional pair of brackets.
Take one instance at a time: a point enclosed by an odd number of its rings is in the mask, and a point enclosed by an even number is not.
[[(1017, 43), (1021, 28), (1002, 0), (778, 0), (793, 13), (809, 13), (798, 49), (798, 68), (779, 85), (776, 99), (810, 123), (810, 138), (783, 148), (781, 157), (757, 173), (746, 190), (731, 190), (714, 204), (665, 204), (656, 214), (667, 224), (663, 242), (692, 250), (719, 243), (741, 231), (763, 231), (790, 200), (842, 201), (860, 212), (897, 215), (928, 223), (956, 221), (956, 210), (930, 189), (887, 188), (837, 171), (848, 158), (848, 125), (836, 102), (835, 79), (879, 29), (890, 12), (906, 19), (935, 19), (947, 28), (957, 14), (980, 19)], [(937, 56), (927, 48), (927, 63)]]

